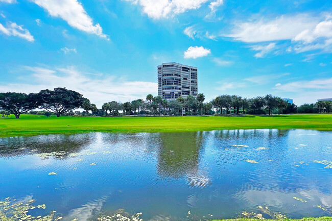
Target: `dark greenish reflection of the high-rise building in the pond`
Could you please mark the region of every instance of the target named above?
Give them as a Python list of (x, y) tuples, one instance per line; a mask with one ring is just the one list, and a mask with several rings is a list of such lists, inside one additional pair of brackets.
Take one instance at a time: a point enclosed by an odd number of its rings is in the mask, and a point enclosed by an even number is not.
[(201, 132), (160, 133), (157, 170), (162, 178), (180, 178), (198, 174)]

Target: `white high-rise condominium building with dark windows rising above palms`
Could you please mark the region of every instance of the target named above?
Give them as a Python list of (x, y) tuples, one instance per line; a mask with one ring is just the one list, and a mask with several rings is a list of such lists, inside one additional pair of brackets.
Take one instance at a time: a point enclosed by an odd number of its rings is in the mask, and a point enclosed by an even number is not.
[(158, 96), (168, 101), (191, 94), (197, 97), (197, 67), (179, 63), (158, 65)]

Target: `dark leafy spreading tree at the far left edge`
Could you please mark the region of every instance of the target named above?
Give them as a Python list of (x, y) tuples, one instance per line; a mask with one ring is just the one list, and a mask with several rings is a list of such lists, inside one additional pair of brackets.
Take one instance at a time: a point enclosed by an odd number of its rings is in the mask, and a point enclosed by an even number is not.
[(38, 99), (34, 93), (0, 93), (0, 108), (13, 113), (15, 118), (37, 107)]

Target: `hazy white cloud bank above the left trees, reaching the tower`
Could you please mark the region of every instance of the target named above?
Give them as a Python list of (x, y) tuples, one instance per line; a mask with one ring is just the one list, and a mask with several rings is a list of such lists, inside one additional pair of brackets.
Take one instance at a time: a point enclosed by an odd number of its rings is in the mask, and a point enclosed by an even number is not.
[[(0, 92), (38, 92), (42, 89), (66, 87), (78, 91), (87, 97), (92, 103), (101, 107), (107, 101), (121, 101), (141, 99), (149, 93), (157, 91), (155, 82), (128, 81), (125, 78), (104, 76), (99, 73), (84, 73), (75, 67), (45, 68), (24, 67), (27, 73), (26, 80), (17, 83), (0, 83)], [(28, 77), (29, 76), (29, 77)], [(33, 83), (31, 83), (33, 82)]]

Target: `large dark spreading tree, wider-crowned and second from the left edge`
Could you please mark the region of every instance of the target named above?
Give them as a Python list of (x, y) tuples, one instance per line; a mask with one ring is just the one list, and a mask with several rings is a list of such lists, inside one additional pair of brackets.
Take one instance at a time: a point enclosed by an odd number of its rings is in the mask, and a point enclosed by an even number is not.
[(70, 110), (80, 108), (85, 100), (82, 94), (65, 87), (41, 90), (38, 97), (41, 108), (54, 113), (57, 117)]

